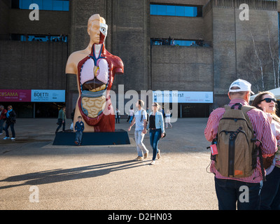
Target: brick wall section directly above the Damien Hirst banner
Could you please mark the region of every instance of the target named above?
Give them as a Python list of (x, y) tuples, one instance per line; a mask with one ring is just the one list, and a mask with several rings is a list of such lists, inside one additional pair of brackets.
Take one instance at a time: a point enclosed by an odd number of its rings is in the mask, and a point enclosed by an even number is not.
[(213, 91), (213, 76), (213, 48), (152, 48), (153, 90)]

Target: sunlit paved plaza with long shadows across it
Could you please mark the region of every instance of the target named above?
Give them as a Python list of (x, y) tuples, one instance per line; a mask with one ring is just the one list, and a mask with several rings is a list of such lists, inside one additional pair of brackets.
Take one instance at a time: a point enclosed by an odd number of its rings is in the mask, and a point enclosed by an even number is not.
[[(134, 161), (134, 127), (130, 145), (53, 146), (56, 120), (18, 118), (16, 139), (1, 135), (0, 209), (218, 209), (214, 175), (207, 172), (207, 118), (177, 120), (160, 140), (153, 166), (148, 134), (148, 159)], [(128, 127), (124, 119), (116, 124)]]

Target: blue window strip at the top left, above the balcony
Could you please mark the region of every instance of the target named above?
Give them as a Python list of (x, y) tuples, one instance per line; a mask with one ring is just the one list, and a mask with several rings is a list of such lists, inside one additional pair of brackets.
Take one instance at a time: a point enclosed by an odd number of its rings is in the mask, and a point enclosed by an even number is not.
[(12, 8), (29, 9), (32, 3), (39, 10), (69, 11), (69, 0), (12, 0)]

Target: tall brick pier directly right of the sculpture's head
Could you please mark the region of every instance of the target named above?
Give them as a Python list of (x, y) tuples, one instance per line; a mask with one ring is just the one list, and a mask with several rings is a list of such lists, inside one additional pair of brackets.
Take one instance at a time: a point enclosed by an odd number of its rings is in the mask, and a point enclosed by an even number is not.
[(125, 65), (125, 74), (116, 76), (113, 89), (119, 84), (127, 90), (148, 90), (150, 73), (149, 5), (146, 1), (113, 1), (112, 52)]

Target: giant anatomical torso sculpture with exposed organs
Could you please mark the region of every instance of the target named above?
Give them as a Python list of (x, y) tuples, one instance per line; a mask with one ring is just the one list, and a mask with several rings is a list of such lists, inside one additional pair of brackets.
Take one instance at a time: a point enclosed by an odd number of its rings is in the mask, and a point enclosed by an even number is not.
[(85, 50), (73, 52), (66, 64), (66, 73), (77, 75), (79, 97), (74, 124), (78, 116), (82, 116), (85, 132), (114, 132), (110, 90), (115, 74), (123, 73), (123, 62), (105, 49), (107, 25), (104, 18), (92, 15), (87, 32), (90, 44)]

